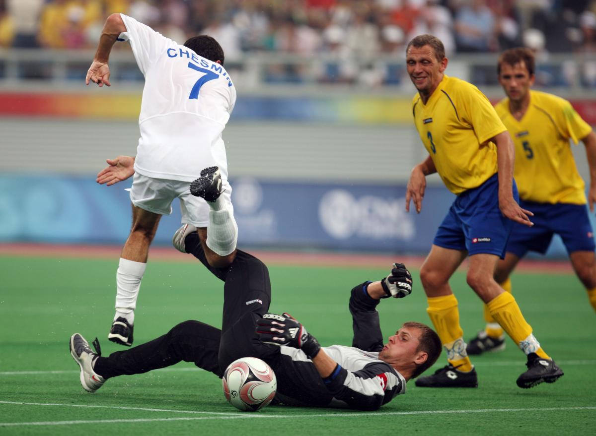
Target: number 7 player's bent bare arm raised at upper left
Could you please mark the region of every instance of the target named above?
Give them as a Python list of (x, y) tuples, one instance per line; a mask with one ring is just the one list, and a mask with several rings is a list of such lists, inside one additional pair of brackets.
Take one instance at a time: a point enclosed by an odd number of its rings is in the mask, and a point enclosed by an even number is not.
[(89, 82), (97, 83), (100, 88), (107, 85), (110, 86), (110, 67), (108, 66), (108, 59), (110, 58), (111, 49), (116, 43), (116, 39), (120, 33), (126, 32), (126, 26), (120, 14), (111, 14), (105, 20), (104, 29), (101, 32), (100, 42), (97, 45), (95, 57), (87, 71), (85, 77), (85, 84)]

